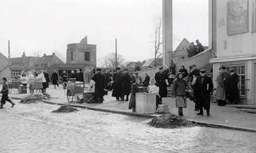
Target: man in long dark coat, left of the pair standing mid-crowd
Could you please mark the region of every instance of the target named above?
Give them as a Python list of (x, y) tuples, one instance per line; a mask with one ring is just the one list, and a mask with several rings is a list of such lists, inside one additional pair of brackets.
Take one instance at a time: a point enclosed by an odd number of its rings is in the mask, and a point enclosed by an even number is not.
[(116, 73), (113, 74), (113, 92), (112, 96), (119, 100), (121, 98), (122, 74), (120, 67), (116, 68)]

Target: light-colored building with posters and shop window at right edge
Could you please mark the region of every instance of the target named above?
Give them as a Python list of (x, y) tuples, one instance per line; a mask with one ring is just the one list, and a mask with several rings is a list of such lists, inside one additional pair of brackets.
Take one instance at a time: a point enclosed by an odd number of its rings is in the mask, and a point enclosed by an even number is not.
[[(234, 68), (239, 75), (240, 97), (256, 105), (256, 1), (209, 1), (212, 11), (213, 83), (220, 66)], [(210, 29), (210, 28), (209, 28)]]

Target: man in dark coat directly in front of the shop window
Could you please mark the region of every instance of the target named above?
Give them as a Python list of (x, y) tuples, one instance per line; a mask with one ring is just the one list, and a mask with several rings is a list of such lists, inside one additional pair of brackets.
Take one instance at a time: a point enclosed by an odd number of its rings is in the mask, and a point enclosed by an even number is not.
[(230, 69), (226, 77), (225, 90), (227, 100), (233, 105), (237, 105), (239, 100), (238, 82), (238, 75), (234, 72), (234, 69)]

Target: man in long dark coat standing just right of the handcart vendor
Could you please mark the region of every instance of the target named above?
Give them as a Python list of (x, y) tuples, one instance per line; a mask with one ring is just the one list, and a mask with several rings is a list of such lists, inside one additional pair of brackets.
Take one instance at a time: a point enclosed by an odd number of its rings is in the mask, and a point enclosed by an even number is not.
[(94, 98), (97, 102), (102, 103), (105, 88), (105, 77), (101, 74), (100, 68), (96, 69), (96, 74), (93, 76), (92, 80), (95, 81)]

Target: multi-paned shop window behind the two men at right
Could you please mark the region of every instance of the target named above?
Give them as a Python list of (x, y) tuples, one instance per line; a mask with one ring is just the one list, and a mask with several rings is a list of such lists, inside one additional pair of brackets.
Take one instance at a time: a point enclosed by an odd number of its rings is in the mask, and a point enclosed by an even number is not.
[(234, 71), (236, 72), (236, 74), (238, 75), (238, 90), (240, 93), (240, 96), (245, 96), (246, 95), (246, 91), (245, 91), (245, 65), (224, 65), (226, 67), (227, 72), (230, 71), (230, 69), (234, 69)]

